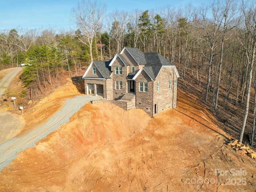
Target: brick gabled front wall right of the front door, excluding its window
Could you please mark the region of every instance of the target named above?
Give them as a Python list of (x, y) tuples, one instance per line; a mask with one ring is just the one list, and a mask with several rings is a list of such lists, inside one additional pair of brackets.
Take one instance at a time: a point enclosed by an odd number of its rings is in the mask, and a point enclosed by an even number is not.
[[(148, 92), (139, 92), (140, 83), (148, 82)], [(153, 94), (153, 82), (144, 70), (136, 78), (136, 108), (143, 109), (147, 114), (152, 116), (152, 94)]]

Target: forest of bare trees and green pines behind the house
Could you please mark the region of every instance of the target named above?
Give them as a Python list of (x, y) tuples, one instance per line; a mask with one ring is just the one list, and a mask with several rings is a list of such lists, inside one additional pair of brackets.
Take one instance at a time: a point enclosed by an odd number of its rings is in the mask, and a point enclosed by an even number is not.
[[(26, 63), (22, 81), (36, 98), (63, 72), (78, 76), (92, 60), (124, 48), (158, 52), (174, 63), (179, 88), (194, 93), (232, 135), (255, 138), (256, 1), (214, 0), (184, 8), (115, 10), (82, 0), (70, 9), (75, 30), (16, 28), (0, 32), (0, 69)], [(242, 111), (238, 112), (238, 111)]]

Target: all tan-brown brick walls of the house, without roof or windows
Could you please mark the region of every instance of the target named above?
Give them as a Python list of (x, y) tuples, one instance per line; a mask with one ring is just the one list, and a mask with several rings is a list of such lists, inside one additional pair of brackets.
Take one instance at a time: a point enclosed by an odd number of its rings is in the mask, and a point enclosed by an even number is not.
[[(131, 62), (128, 56), (124, 52), (124, 57)], [(122, 74), (115, 74), (115, 67), (122, 67)], [(142, 66), (138, 66), (136, 70), (139, 70)], [(129, 102), (119, 101), (124, 94), (128, 93), (129, 81), (126, 79), (128, 72), (131, 71), (131, 66), (125, 66), (119, 57), (112, 63), (111, 66), (112, 76), (107, 80), (88, 80), (84, 79), (84, 90), (87, 94), (87, 84), (94, 85), (94, 95), (96, 95), (96, 84), (103, 85), (103, 100), (92, 101), (96, 102), (109, 102), (129, 110), (132, 108), (140, 108), (144, 110), (148, 115), (153, 117), (154, 115), (166, 110), (168, 108), (176, 108), (177, 106), (177, 89), (178, 78), (175, 73), (174, 67), (165, 66), (162, 67), (157, 79), (152, 81), (144, 70), (137, 76), (135, 80), (135, 95), (136, 97)], [(136, 71), (137, 73), (137, 71)], [(171, 80), (171, 88), (169, 88), (169, 80)], [(176, 88), (174, 88), (174, 82), (176, 82)], [(122, 81), (122, 90), (116, 90), (115, 82)], [(148, 82), (148, 92), (140, 92), (140, 83)], [(159, 82), (159, 92), (157, 91), (157, 82)], [(100, 87), (102, 88), (102, 87)], [(100, 90), (100, 89), (99, 89)], [(157, 105), (157, 110), (155, 106)]]

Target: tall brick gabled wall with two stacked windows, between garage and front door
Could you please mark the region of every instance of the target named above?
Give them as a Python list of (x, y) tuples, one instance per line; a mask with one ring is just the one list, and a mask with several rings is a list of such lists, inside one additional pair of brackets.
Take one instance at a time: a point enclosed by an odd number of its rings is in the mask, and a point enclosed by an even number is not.
[[(122, 67), (122, 74), (115, 74), (115, 67)], [(126, 94), (128, 88), (127, 88), (127, 74), (126, 74), (126, 67), (124, 66), (124, 63), (122, 60), (120, 60), (119, 57), (116, 58), (114, 63), (111, 66), (112, 71), (112, 88), (113, 88), (113, 100), (120, 99), (124, 94)], [(115, 81), (122, 81), (122, 90), (116, 90), (116, 84)]]

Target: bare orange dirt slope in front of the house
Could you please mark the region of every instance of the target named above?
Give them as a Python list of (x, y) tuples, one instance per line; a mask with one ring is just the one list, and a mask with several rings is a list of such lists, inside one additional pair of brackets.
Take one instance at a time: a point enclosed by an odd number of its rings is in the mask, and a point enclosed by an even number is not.
[(215, 122), (182, 91), (154, 118), (86, 104), (2, 170), (0, 191), (254, 191), (256, 161), (226, 146)]

